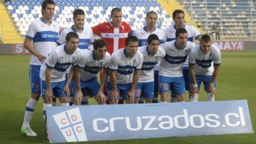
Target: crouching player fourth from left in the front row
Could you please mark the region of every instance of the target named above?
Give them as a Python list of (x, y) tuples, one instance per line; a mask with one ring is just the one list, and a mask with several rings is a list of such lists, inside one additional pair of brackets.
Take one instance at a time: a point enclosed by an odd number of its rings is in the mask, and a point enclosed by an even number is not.
[[(166, 55), (166, 51), (159, 47), (159, 36), (151, 34), (148, 36), (147, 45), (139, 47), (143, 54), (141, 75), (135, 88), (136, 97), (144, 97), (146, 103), (152, 103), (154, 98), (154, 66)], [(158, 84), (158, 82), (157, 82)], [(135, 101), (135, 103), (137, 103)]]

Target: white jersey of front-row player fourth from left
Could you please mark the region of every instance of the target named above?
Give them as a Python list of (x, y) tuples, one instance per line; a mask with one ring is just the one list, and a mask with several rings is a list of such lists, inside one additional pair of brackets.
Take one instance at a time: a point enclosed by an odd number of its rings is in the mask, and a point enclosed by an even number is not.
[(162, 47), (159, 47), (157, 53), (154, 54), (154, 56), (151, 56), (147, 45), (139, 47), (138, 50), (143, 54), (144, 57), (141, 75), (139, 76), (138, 82), (154, 81), (154, 66), (163, 59), (163, 57), (166, 55), (166, 51)]

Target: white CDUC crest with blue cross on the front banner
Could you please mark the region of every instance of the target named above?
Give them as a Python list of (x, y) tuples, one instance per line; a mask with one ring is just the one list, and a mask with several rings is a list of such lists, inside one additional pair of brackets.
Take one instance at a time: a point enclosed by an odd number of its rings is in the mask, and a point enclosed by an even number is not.
[(88, 141), (79, 108), (53, 115), (66, 142)]

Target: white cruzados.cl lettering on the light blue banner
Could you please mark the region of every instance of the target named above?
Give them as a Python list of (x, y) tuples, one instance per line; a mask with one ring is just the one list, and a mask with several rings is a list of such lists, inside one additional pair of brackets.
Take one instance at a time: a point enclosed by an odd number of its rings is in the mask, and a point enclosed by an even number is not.
[[(238, 108), (238, 113), (230, 112), (220, 117), (217, 114), (193, 114), (190, 115), (188, 109), (183, 109), (183, 114), (160, 115), (160, 116), (138, 116), (138, 117), (112, 117), (96, 118), (93, 120), (93, 130), (97, 133), (115, 131), (115, 127), (120, 127), (117, 122), (124, 123), (124, 128), (128, 131), (153, 131), (153, 130), (170, 130), (172, 128), (217, 128), (217, 127), (245, 127), (245, 117), (243, 108)], [(224, 119), (224, 120), (223, 120)], [(136, 124), (131, 124), (131, 121)], [(223, 122), (223, 123), (221, 123)], [(100, 125), (100, 126), (99, 126)], [(136, 126), (135, 126), (136, 125)], [(154, 126), (153, 126), (154, 125)], [(156, 126), (157, 125), (157, 126)]]

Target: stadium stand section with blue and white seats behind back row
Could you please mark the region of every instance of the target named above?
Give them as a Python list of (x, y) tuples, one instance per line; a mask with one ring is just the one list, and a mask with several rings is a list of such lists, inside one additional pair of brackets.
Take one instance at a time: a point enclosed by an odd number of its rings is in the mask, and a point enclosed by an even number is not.
[[(62, 27), (69, 27), (73, 24), (72, 13), (77, 8), (81, 8), (85, 11), (86, 25), (95, 26), (96, 24), (110, 21), (109, 16), (113, 7), (121, 8), (123, 11), (123, 21), (128, 22), (133, 29), (138, 29), (145, 25), (145, 16), (150, 10), (157, 11), (159, 14), (160, 19), (157, 23), (158, 27), (165, 29), (172, 24), (172, 18), (170, 18), (159, 3), (154, 0), (120, 0), (118, 2), (114, 0), (71, 0), (67, 2), (55, 2), (56, 15), (54, 20), (56, 20)], [(6, 3), (6, 7), (14, 20), (15, 25), (20, 27), (22, 35), (26, 35), (26, 31), (31, 22), (41, 17), (40, 5), (41, 2), (33, 0)]]

